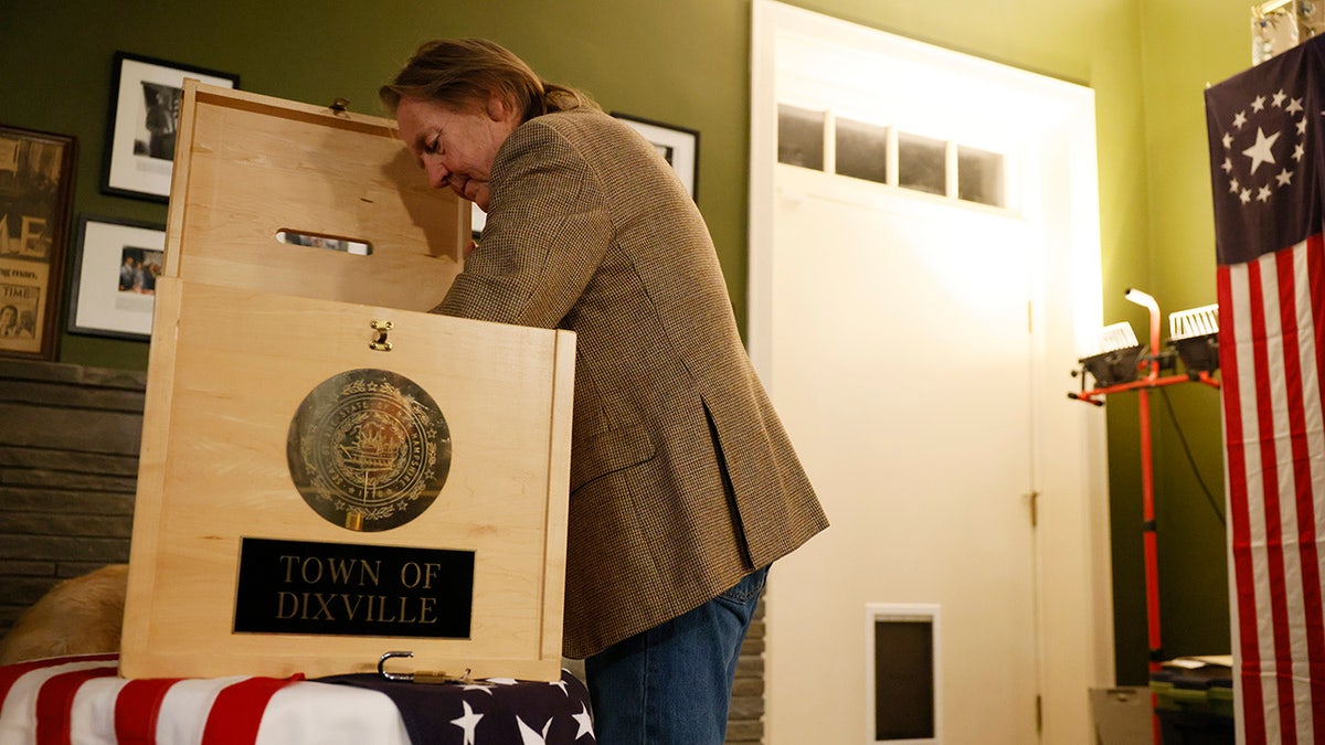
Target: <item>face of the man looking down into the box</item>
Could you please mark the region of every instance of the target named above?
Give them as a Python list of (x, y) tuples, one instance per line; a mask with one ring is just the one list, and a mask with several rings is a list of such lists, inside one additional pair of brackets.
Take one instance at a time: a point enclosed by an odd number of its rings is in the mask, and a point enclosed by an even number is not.
[(496, 97), (465, 110), (405, 97), (396, 106), (400, 139), (419, 159), (433, 188), (449, 187), (488, 211), (493, 159), (518, 122)]

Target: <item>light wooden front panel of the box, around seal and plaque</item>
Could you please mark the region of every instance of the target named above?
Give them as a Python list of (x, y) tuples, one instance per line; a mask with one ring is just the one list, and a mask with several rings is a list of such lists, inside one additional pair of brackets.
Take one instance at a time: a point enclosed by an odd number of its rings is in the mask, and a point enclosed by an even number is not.
[[(180, 296), (163, 306), (178, 313), (175, 343), (154, 359), (148, 391), (158, 380), (172, 388), (150, 404), (168, 435), (152, 440), (152, 453), (144, 449), (122, 673), (364, 672), (383, 652), (405, 648), (419, 669), (555, 679), (574, 335), (176, 280), (163, 285), (166, 297)], [(368, 346), (370, 321), (380, 318), (395, 325), (390, 353)], [(318, 516), (286, 459), (290, 422), (307, 392), (358, 369), (417, 383), (452, 439), (450, 469), (433, 504), (378, 533)], [(470, 636), (235, 634), (242, 538), (473, 551)]]

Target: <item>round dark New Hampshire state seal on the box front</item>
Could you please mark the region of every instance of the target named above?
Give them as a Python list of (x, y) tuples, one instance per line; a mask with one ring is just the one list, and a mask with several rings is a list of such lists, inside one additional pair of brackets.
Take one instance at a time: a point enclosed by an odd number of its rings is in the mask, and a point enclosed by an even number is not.
[(290, 422), (294, 485), (350, 530), (399, 528), (432, 505), (450, 469), (450, 430), (413, 380), (360, 369), (323, 380)]

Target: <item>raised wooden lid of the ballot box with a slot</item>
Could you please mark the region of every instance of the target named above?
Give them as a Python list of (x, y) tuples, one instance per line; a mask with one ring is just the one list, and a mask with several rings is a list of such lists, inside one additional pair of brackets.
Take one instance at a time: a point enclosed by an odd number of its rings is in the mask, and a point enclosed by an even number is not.
[[(428, 310), (460, 272), (470, 205), (428, 186), (388, 119), (189, 81), (180, 133), (167, 276)], [(282, 243), (282, 232), (371, 255)]]

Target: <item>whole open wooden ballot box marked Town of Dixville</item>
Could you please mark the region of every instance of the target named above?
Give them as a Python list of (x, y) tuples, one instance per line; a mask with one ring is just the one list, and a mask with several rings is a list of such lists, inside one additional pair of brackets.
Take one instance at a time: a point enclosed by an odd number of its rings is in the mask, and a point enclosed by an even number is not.
[(121, 675), (558, 680), (575, 338), (425, 313), (468, 211), (387, 119), (187, 81)]

